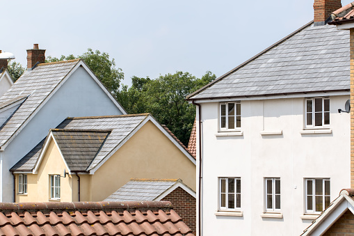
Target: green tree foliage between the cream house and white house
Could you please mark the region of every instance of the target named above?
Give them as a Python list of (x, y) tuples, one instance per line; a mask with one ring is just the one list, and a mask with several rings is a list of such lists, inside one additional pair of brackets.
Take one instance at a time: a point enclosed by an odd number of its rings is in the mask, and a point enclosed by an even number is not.
[(152, 113), (159, 123), (166, 125), (177, 138), (188, 144), (195, 106), (185, 97), (216, 79), (207, 72), (201, 79), (188, 72), (161, 75), (157, 79), (132, 77), (130, 88), (123, 86), (116, 97), (128, 113)]

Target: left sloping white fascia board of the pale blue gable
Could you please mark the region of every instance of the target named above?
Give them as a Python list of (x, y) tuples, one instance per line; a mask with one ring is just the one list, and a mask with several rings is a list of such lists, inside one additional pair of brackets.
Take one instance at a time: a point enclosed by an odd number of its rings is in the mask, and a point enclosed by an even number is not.
[(33, 111), (31, 113), (31, 115), (24, 121), (24, 123), (20, 127), (18, 127), (16, 132), (13, 134), (13, 136), (11, 136), (10, 139), (8, 139), (8, 141), (6, 141), (6, 143), (4, 143), (2, 146), (0, 146), (0, 148), (2, 150), (4, 150), (8, 146), (8, 144), (11, 143), (11, 141), (13, 141), (13, 139), (15, 139), (15, 136), (17, 136), (17, 134), (19, 134), (19, 132), (21, 132), (21, 130), (24, 129), (24, 127), (26, 127), (26, 125), (32, 120), (32, 118), (38, 113), (38, 111), (40, 111), (40, 109), (42, 109), (42, 107), (44, 107), (45, 104), (47, 104), (47, 102), (51, 99), (51, 97), (59, 90), (59, 88), (61, 88), (61, 86), (63, 86), (63, 84), (65, 84), (65, 81), (67, 81), (67, 79), (69, 79), (69, 77), (77, 70), (77, 68), (79, 68), (79, 66), (80, 66), (79, 63), (77, 63), (74, 66), (74, 68), (72, 68), (72, 70), (70, 70), (70, 72), (68, 72), (65, 75), (63, 80), (56, 85), (54, 90), (51, 91), (51, 93), (49, 93), (49, 95), (45, 98), (45, 100), (43, 100), (41, 102), (41, 104), (37, 107), (37, 109), (35, 109), (35, 111)]

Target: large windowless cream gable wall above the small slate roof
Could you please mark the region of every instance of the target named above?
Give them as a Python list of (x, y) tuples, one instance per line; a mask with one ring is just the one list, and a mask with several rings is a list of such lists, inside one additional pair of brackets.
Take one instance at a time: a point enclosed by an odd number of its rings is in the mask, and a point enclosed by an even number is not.
[(92, 201), (104, 200), (131, 178), (180, 178), (195, 191), (195, 164), (148, 121), (91, 178)]

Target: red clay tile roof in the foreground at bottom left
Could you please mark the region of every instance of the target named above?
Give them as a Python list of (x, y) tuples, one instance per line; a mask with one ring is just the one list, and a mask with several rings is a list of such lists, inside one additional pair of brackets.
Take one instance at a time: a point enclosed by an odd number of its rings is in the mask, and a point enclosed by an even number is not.
[(0, 203), (0, 235), (193, 236), (167, 201)]

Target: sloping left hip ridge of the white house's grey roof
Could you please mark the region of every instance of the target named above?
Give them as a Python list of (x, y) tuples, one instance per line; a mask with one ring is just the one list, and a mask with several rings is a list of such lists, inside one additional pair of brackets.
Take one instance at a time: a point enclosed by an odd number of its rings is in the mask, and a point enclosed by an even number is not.
[(236, 66), (236, 68), (230, 70), (229, 72), (226, 72), (225, 74), (221, 75), (220, 77), (218, 77), (217, 79), (214, 79), (214, 81), (211, 81), (209, 84), (202, 86), (202, 88), (199, 88), (197, 91), (194, 91), (193, 93), (189, 94), (186, 96), (186, 100), (193, 100), (193, 96), (198, 95), (198, 93), (204, 91), (205, 89), (211, 87), (212, 85), (214, 85), (216, 82), (224, 79), (225, 77), (227, 77), (229, 74), (232, 74), (233, 72), (235, 72), (236, 70), (239, 70), (240, 68), (243, 68), (243, 66), (247, 65), (248, 63), (250, 63), (251, 61), (254, 61), (256, 58), (258, 58), (259, 56), (262, 56), (263, 54), (265, 54), (266, 52), (268, 52), (269, 50), (273, 49), (274, 47), (277, 47), (277, 45), (280, 45), (282, 42), (284, 42), (285, 40), (288, 40), (289, 38), (291, 38), (292, 36), (294, 36), (296, 33), (299, 33), (300, 31), (302, 31), (303, 29), (307, 28), (308, 26), (310, 26), (312, 23), (314, 23), (314, 20), (312, 20), (311, 22), (301, 26), (299, 29), (297, 29), (296, 31), (293, 31), (292, 33), (290, 33), (288, 36), (285, 36), (284, 38), (282, 38), (281, 40), (275, 42), (273, 45), (267, 47), (266, 49), (264, 49), (262, 52), (259, 52), (259, 54), (256, 54), (255, 56), (252, 56), (250, 59), (248, 59), (247, 61), (241, 63), (240, 65)]

